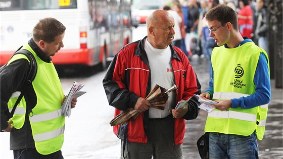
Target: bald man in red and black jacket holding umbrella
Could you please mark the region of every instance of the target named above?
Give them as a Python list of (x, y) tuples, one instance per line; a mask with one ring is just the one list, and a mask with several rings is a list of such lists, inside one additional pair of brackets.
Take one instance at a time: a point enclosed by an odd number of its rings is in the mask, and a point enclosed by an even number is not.
[[(140, 112), (135, 120), (113, 127), (121, 139), (120, 158), (182, 158), (185, 120), (197, 118), (199, 103), (190, 99), (183, 109), (174, 108), (200, 93), (201, 86), (183, 51), (171, 45), (174, 23), (169, 12), (154, 11), (147, 19), (147, 36), (121, 48), (103, 79), (115, 116), (129, 108)], [(151, 108), (145, 99), (156, 84), (178, 86), (164, 110)]]

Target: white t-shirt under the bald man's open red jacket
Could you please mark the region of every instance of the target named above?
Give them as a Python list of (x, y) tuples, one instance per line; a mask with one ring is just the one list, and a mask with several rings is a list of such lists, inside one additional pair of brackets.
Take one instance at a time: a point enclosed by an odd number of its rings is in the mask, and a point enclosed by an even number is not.
[[(174, 85), (174, 72), (171, 66), (171, 50), (167, 46), (165, 49), (157, 49), (153, 47), (148, 39), (144, 41), (145, 51), (149, 59), (149, 65), (151, 70), (151, 90), (156, 84), (163, 88), (170, 88)], [(164, 110), (158, 110), (155, 108), (149, 109), (149, 118), (165, 118), (171, 114), (171, 110), (174, 108), (176, 100), (176, 91), (169, 93), (168, 102)], [(169, 112), (170, 105), (170, 112)]]

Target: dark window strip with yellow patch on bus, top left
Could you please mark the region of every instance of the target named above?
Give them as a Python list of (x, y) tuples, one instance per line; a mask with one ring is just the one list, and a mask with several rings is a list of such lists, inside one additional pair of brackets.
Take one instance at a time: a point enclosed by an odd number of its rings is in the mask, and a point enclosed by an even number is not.
[(74, 9), (76, 0), (0, 0), (0, 11)]

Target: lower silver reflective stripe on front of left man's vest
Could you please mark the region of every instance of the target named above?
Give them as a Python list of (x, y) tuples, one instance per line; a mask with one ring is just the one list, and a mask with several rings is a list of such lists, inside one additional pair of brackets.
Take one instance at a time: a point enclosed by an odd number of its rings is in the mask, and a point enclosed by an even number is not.
[(53, 139), (59, 135), (64, 134), (64, 130), (65, 130), (65, 125), (59, 129), (53, 130), (53, 131), (49, 131), (46, 133), (41, 133), (41, 134), (35, 134), (34, 135), (34, 141), (35, 142), (39, 142), (39, 141), (44, 141), (44, 140), (49, 140), (49, 139)]

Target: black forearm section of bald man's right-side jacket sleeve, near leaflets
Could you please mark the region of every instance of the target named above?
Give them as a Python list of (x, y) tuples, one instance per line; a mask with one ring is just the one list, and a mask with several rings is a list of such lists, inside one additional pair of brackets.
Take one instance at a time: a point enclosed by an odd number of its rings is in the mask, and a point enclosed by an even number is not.
[[(197, 85), (198, 85), (198, 91), (195, 94), (201, 94), (201, 83), (198, 79), (198, 76), (196, 74), (196, 80), (197, 80)], [(199, 115), (199, 105), (201, 103), (198, 101), (198, 98), (196, 96), (193, 96), (188, 102), (187, 102), (187, 106), (188, 106), (188, 111), (187, 113), (183, 116), (183, 119), (185, 120), (192, 120), (192, 119), (196, 119)]]

